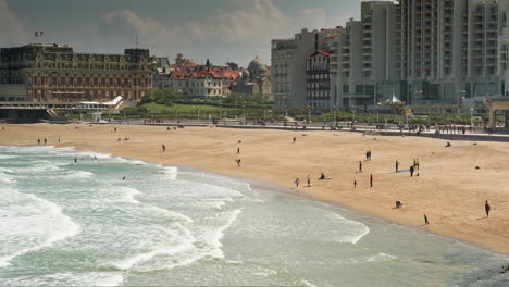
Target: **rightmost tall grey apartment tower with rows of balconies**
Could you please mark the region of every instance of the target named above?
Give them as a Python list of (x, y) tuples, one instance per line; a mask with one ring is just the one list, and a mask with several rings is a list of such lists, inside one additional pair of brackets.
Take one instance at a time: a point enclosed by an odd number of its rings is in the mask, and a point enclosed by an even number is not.
[(498, 64), (507, 3), (401, 0), (398, 72), (412, 104), (474, 104), (505, 95)]

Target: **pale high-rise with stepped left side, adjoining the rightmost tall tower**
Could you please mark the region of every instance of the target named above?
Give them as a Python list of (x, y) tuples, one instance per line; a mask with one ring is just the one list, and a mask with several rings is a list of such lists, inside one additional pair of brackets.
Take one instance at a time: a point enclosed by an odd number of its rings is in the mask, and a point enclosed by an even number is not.
[(331, 50), (333, 107), (369, 107), (400, 84), (396, 76), (396, 7), (362, 2), (361, 20), (346, 23), (346, 33)]

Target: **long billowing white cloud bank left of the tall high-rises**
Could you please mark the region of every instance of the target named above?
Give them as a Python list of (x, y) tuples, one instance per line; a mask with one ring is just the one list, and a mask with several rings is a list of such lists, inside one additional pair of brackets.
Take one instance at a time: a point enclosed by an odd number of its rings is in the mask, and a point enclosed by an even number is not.
[(141, 17), (124, 9), (109, 12), (98, 26), (103, 40), (132, 42), (135, 35), (148, 45), (186, 46), (207, 41), (235, 43), (264, 41), (284, 35), (288, 18), (271, 0), (235, 1), (202, 21), (189, 21), (181, 26), (166, 27), (162, 22)]

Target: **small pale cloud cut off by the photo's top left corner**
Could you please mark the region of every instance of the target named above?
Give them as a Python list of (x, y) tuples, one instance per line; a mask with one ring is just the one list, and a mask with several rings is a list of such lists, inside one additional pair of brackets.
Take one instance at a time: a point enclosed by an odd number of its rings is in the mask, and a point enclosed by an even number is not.
[(25, 28), (5, 0), (0, 0), (0, 41), (3, 46), (26, 43)]

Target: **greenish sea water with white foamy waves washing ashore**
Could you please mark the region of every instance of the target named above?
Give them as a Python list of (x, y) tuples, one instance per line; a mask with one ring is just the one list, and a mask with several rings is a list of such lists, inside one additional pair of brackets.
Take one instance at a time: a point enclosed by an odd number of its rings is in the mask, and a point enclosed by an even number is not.
[(231, 177), (0, 147), (0, 286), (509, 286), (508, 263)]

